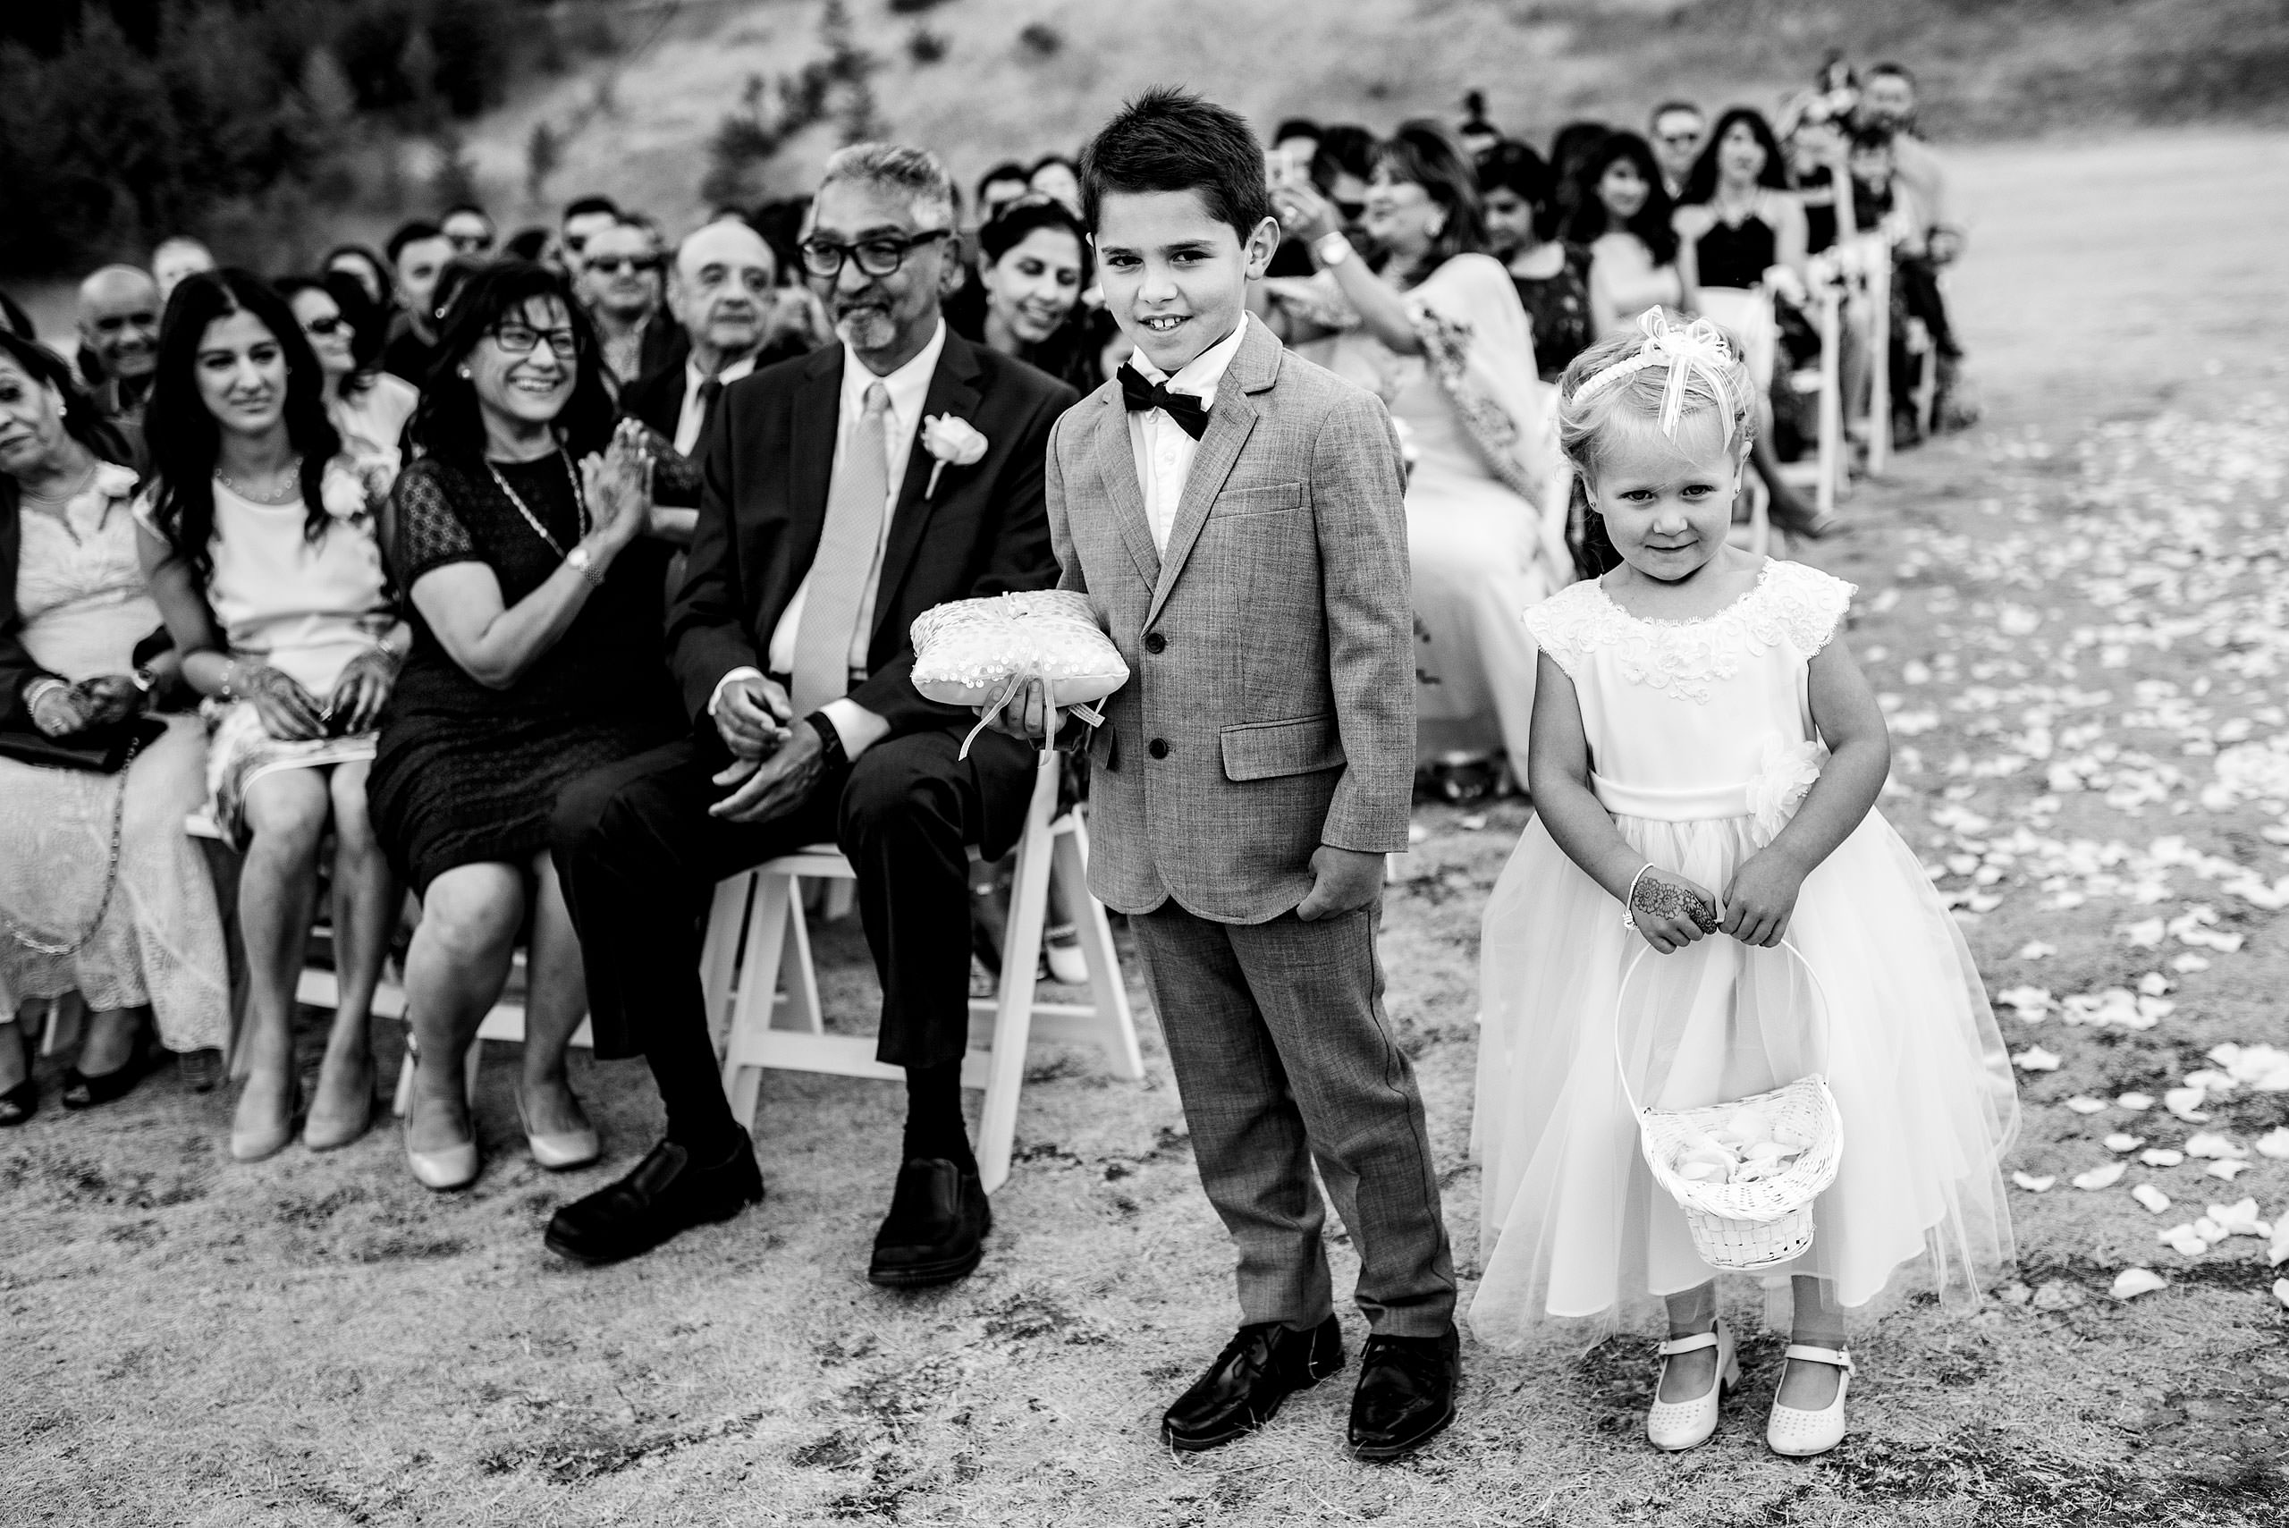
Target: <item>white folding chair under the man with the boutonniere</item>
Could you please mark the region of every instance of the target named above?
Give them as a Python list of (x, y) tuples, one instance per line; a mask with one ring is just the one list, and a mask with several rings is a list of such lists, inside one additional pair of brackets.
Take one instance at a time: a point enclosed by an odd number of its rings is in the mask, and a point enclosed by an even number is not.
[[(1058, 817), (1055, 810), (1058, 755), (1044, 753), (1016, 849), (1000, 990), (993, 997), (971, 1000), (971, 1050), (961, 1061), (961, 1084), (987, 1093), (977, 1128), (977, 1173), (987, 1192), (1009, 1178), (1028, 1041), (1094, 1043), (1103, 1048), (1115, 1077), (1124, 1082), (1144, 1077), (1128, 993), (1112, 949), (1112, 924), (1103, 904), (1087, 890), (1090, 835), (1078, 814)], [(1090, 968), (1092, 997), (1085, 1004), (1035, 1002), (1035, 963), (1048, 917), (1051, 876), (1078, 908), (1080, 954)], [(874, 1059), (874, 1036), (826, 1034), (822, 1022), (801, 883), (854, 878), (849, 860), (833, 844), (813, 844), (716, 888), (700, 972), (710, 1020), (728, 1022), (723, 1091), (730, 1096), (732, 1114), (749, 1128), (755, 1123), (755, 1096), (767, 1066), (881, 1082), (902, 1082), (906, 1075), (902, 1066)]]

